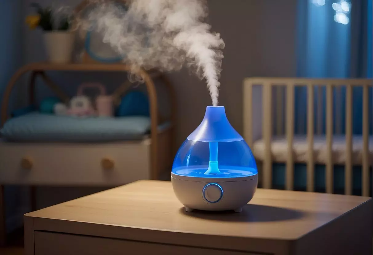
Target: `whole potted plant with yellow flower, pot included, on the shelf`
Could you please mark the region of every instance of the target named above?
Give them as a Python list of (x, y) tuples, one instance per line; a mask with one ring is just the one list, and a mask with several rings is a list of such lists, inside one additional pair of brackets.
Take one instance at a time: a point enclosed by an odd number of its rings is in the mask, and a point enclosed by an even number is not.
[(72, 60), (74, 33), (70, 31), (72, 13), (66, 7), (52, 9), (43, 8), (38, 3), (32, 3), (36, 14), (26, 17), (30, 29), (41, 28), (44, 32), (44, 43), (48, 59), (53, 63), (69, 63)]

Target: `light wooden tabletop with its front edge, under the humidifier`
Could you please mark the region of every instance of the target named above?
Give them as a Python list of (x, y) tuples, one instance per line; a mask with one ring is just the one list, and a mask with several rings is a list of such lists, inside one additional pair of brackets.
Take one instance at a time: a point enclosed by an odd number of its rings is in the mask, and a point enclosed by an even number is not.
[(137, 181), (25, 217), (34, 220), (35, 230), (110, 238), (168, 233), (165, 238), (195, 234), (296, 240), (368, 202), (369, 197), (258, 189), (241, 213), (187, 213), (171, 182)]

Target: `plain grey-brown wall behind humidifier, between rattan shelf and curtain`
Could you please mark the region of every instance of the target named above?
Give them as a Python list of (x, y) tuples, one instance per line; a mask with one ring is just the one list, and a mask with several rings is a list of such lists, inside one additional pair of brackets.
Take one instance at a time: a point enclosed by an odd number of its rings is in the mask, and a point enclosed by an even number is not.
[[(295, 76), (297, 0), (210, 0), (210, 24), (221, 34), (223, 71), (219, 104), (232, 126), (242, 133), (242, 80), (245, 77)], [(178, 135), (181, 144), (211, 104), (204, 81), (186, 71), (170, 75), (178, 94)]]

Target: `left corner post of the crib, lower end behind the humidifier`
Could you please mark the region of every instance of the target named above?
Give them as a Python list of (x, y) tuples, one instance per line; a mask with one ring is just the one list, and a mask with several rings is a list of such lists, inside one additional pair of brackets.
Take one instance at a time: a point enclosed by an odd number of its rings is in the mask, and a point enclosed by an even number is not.
[(253, 84), (250, 81), (244, 83), (244, 136), (247, 144), (253, 148)]

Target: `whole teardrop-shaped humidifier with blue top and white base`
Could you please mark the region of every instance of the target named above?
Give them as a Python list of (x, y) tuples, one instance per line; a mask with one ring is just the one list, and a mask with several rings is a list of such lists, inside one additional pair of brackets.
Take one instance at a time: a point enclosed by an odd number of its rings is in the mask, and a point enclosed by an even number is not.
[(255, 159), (223, 106), (207, 106), (201, 124), (175, 156), (171, 180), (187, 212), (241, 212), (253, 198), (258, 184)]

